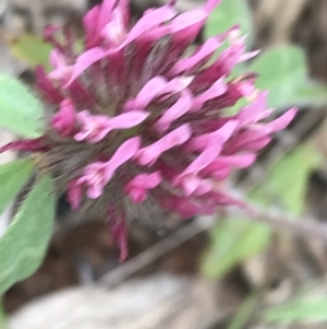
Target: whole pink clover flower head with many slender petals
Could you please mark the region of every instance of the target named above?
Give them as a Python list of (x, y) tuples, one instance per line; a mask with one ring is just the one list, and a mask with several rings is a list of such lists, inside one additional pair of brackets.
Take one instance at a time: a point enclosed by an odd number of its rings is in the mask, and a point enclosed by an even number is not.
[[(45, 31), (52, 71), (39, 67), (36, 75), (53, 109), (48, 129), (0, 151), (43, 153), (73, 209), (106, 209), (122, 259), (126, 202), (150, 199), (185, 219), (233, 204), (221, 183), (295, 115), (267, 121), (267, 92), (255, 89), (255, 74), (231, 78), (257, 54), (245, 52), (238, 26), (195, 47), (219, 2), (185, 13), (169, 3), (132, 23), (126, 0), (105, 0), (83, 20), (80, 54), (68, 28)], [(242, 98), (247, 105), (229, 115)]]

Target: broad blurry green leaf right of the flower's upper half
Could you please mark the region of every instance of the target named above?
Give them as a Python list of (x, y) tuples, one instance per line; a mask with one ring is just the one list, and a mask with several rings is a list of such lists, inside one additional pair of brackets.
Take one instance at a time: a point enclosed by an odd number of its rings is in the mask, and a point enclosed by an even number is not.
[(256, 86), (269, 90), (270, 107), (326, 104), (327, 87), (308, 80), (304, 51), (287, 45), (266, 50), (257, 56), (246, 71), (259, 74)]

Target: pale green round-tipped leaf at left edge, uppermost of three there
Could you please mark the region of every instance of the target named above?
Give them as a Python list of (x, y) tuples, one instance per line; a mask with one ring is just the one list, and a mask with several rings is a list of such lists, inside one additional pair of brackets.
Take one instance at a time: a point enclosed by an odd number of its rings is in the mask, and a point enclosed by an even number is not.
[(43, 132), (40, 102), (16, 79), (0, 73), (0, 125), (17, 134), (36, 138)]

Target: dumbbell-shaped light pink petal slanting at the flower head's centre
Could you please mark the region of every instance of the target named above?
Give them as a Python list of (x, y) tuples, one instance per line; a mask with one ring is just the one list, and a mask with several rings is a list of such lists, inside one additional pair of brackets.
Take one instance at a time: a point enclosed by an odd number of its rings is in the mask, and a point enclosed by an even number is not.
[(135, 157), (141, 165), (153, 165), (161, 153), (185, 143), (190, 139), (191, 134), (191, 127), (185, 124), (169, 132), (149, 146), (141, 149)]

